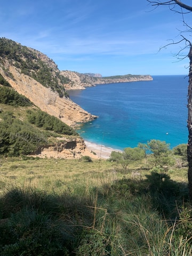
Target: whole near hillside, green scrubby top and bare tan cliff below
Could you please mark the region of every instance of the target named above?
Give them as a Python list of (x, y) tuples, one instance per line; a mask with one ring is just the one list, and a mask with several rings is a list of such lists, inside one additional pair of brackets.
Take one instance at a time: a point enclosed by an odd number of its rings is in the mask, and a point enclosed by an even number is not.
[(5, 38), (0, 49), (1, 76), (34, 105), (68, 125), (96, 118), (68, 98), (71, 81), (45, 54)]

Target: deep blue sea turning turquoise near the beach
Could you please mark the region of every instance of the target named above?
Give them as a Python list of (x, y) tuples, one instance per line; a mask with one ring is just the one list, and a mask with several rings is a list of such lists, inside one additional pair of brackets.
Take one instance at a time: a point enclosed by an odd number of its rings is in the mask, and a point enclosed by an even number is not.
[(69, 91), (71, 100), (99, 116), (77, 130), (90, 142), (115, 149), (158, 139), (171, 148), (187, 143), (188, 77), (153, 76), (153, 81), (115, 83)]

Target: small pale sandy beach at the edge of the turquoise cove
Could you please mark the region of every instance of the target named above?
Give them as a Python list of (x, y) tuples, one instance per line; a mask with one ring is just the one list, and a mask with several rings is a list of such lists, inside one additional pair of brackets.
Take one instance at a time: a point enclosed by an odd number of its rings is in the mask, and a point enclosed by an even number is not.
[(110, 154), (112, 151), (121, 152), (121, 150), (105, 147), (103, 145), (98, 145), (96, 143), (92, 143), (92, 142), (86, 141), (86, 140), (85, 140), (85, 145), (86, 145), (87, 149), (96, 153), (98, 157), (105, 158), (105, 159), (110, 157)]

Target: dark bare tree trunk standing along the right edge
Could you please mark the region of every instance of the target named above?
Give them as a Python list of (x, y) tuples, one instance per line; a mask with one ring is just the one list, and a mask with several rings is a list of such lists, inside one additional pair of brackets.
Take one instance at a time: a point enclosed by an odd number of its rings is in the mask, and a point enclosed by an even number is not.
[(192, 201), (192, 46), (189, 51), (189, 87), (188, 87), (188, 147), (187, 147), (187, 158), (188, 158), (188, 185), (189, 185), (189, 197)]

